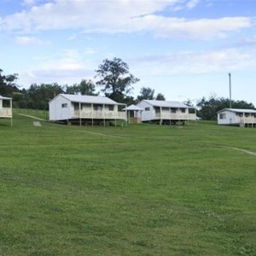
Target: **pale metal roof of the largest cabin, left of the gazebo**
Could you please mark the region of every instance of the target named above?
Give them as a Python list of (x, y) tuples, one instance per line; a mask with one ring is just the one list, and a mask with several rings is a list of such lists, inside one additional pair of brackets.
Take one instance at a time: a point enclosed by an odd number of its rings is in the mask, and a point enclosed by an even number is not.
[(88, 95), (73, 95), (73, 94), (60, 94), (67, 98), (70, 102), (80, 102), (80, 103), (94, 103), (94, 104), (108, 104), (108, 105), (125, 105), (118, 102), (114, 102), (108, 97), (103, 96), (88, 96)]

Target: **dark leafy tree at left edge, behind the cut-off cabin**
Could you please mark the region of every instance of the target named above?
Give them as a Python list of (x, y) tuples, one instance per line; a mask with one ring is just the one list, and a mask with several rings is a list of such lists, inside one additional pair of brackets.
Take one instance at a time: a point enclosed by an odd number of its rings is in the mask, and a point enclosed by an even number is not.
[(16, 80), (18, 79), (18, 74), (2, 75), (3, 70), (0, 69), (0, 95), (2, 96), (12, 96), (14, 92), (19, 92)]

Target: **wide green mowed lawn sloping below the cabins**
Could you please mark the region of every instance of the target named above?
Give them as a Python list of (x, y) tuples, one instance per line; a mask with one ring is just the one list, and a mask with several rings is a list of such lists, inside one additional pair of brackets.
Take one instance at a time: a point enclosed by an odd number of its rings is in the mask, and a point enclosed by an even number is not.
[(32, 121), (0, 119), (0, 255), (255, 255), (256, 129)]

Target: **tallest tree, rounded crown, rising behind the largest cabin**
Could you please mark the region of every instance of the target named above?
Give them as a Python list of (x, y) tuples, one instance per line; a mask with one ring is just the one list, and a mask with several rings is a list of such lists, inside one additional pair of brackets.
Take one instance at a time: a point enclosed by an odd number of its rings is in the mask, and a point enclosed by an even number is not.
[(96, 70), (96, 77), (100, 78), (96, 84), (102, 87), (105, 96), (116, 102), (125, 102), (133, 89), (131, 85), (139, 81), (129, 73), (128, 64), (119, 58), (104, 60)]

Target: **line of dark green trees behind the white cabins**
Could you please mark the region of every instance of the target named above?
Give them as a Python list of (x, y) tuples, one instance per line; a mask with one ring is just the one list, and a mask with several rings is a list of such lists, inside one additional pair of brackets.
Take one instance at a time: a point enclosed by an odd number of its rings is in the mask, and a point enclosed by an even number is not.
[[(79, 84), (31, 84), (28, 89), (24, 89), (17, 84), (17, 73), (3, 75), (3, 70), (0, 69), (0, 95), (11, 96), (14, 108), (41, 110), (48, 110), (49, 101), (60, 93), (97, 96), (102, 92), (113, 101), (127, 105), (136, 104), (144, 99), (166, 100), (161, 93), (155, 96), (155, 91), (149, 87), (141, 88), (140, 95), (137, 97), (131, 96), (134, 89), (132, 85), (136, 84), (139, 79), (130, 73), (128, 64), (119, 58), (102, 61), (102, 64), (96, 69), (95, 78), (97, 79), (96, 83), (90, 79), (82, 79)], [(96, 91), (97, 88), (99, 91)], [(197, 108), (198, 116), (206, 120), (216, 119), (218, 110), (230, 106), (229, 99), (217, 96), (210, 96), (209, 99), (202, 97), (197, 100), (195, 106), (191, 100), (184, 103)], [(252, 103), (245, 101), (232, 101), (231, 103), (232, 108), (254, 108)]]

